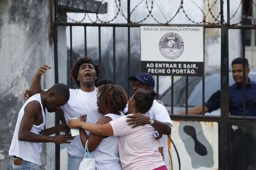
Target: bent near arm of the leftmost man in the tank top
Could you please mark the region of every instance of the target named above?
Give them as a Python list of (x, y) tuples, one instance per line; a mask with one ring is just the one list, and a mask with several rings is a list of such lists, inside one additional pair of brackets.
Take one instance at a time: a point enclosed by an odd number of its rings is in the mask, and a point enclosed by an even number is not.
[(55, 142), (55, 144), (70, 143), (69, 140), (73, 139), (70, 134), (45, 136), (32, 133), (30, 130), (35, 123), (35, 119), (40, 116), (39, 114), (42, 114), (39, 102), (29, 102), (28, 105), (25, 107), (25, 113), (20, 122), (18, 133), (19, 140), (29, 142)]

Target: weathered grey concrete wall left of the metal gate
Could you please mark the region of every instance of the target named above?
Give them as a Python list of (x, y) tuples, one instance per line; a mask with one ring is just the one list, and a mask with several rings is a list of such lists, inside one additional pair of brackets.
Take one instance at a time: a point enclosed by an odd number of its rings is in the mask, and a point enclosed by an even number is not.
[[(41, 64), (53, 68), (42, 85), (54, 84), (54, 48), (50, 32), (49, 1), (0, 1), (0, 167), (9, 169), (8, 150), (23, 90)], [(47, 125), (54, 125), (54, 113), (47, 113)], [(54, 169), (54, 144), (43, 145), (43, 169)], [(47, 164), (46, 164), (47, 162)]]

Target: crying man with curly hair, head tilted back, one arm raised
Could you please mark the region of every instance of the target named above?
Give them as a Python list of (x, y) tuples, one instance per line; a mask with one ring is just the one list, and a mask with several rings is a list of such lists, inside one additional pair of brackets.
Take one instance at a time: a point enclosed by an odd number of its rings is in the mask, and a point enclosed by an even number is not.
[[(50, 67), (42, 65), (36, 72), (30, 94), (36, 94), (41, 91), (40, 80)], [(102, 114), (98, 112), (97, 107), (97, 88), (95, 83), (97, 75), (100, 73), (99, 65), (92, 62), (92, 58), (84, 57), (77, 60), (71, 69), (71, 78), (75, 80), (80, 89), (70, 89), (70, 99), (61, 109), (64, 112), (66, 123), (71, 118), (77, 118), (87, 114), (87, 122), (95, 123)], [(85, 135), (85, 134), (80, 134)], [(67, 169), (79, 169), (79, 164), (84, 157), (84, 147), (80, 140), (80, 135), (75, 136), (70, 144), (67, 144)], [(88, 135), (88, 134), (87, 134)]]

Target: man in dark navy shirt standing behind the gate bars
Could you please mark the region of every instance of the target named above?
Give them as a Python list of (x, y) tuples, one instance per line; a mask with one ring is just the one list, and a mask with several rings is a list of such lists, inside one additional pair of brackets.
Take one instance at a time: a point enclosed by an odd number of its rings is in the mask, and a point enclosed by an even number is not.
[[(235, 58), (232, 65), (232, 76), (234, 84), (229, 86), (229, 112), (233, 116), (243, 116), (243, 63), (245, 63), (245, 95), (246, 108), (245, 116), (256, 116), (256, 82), (250, 80), (248, 74), (250, 73), (249, 63), (246, 58)], [(221, 106), (220, 90), (216, 91), (203, 106), (196, 106), (187, 111), (187, 114), (203, 114), (211, 113)], [(178, 114), (185, 114), (180, 112)]]

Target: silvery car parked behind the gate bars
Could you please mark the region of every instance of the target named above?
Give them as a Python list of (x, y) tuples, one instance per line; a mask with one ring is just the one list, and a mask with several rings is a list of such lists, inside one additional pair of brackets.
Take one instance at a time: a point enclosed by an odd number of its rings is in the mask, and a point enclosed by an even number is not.
[[(256, 71), (250, 71), (250, 80), (256, 81)], [(234, 84), (232, 73), (229, 73), (229, 85)], [(211, 95), (217, 90), (221, 89), (221, 74), (217, 70), (208, 72), (205, 76), (205, 102), (211, 97)], [(174, 83), (174, 114), (184, 112), (186, 108), (186, 76), (182, 76)], [(163, 94), (159, 96), (159, 99), (164, 103), (169, 114), (171, 114), (171, 87), (169, 87)], [(201, 76), (189, 76), (188, 79), (188, 109), (197, 105), (202, 105), (202, 77)], [(206, 115), (220, 116), (220, 109)]]

